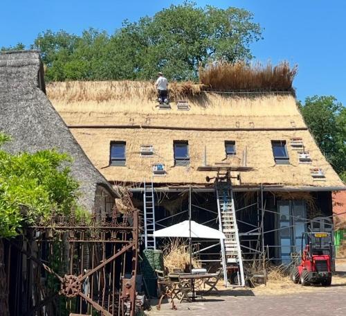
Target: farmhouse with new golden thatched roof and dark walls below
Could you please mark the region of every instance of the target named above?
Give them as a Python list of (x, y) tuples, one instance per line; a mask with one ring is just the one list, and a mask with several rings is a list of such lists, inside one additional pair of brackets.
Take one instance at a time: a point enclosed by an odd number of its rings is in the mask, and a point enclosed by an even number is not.
[[(288, 262), (308, 227), (331, 229), (331, 192), (345, 186), (292, 91), (233, 93), (189, 83), (170, 89), (170, 107), (162, 108), (151, 82), (48, 86), (48, 98), (100, 173), (114, 186), (131, 186), (137, 207), (148, 213), (148, 236), (186, 220), (188, 210), (193, 220), (219, 227), (213, 182), (226, 173), (244, 261), (265, 252)], [(217, 247), (200, 245), (208, 249), (201, 261), (220, 260)]]

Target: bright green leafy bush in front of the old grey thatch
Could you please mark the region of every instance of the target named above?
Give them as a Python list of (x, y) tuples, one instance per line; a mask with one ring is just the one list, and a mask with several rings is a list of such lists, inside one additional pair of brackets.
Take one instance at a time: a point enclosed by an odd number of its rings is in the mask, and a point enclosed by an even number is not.
[[(0, 145), (10, 141), (0, 133)], [(55, 150), (17, 155), (0, 150), (0, 237), (15, 236), (24, 224), (49, 220), (53, 209), (68, 214), (76, 205), (78, 182), (71, 158)]]

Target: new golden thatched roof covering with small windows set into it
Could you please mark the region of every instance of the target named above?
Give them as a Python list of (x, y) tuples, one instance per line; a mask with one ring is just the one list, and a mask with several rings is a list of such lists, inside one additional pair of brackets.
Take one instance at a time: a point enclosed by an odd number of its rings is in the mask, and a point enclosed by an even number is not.
[[(86, 155), (113, 182), (142, 182), (152, 177), (152, 164), (163, 163), (167, 173), (154, 177), (161, 184), (206, 184), (199, 171), (206, 148), (207, 163), (247, 166), (241, 186), (273, 184), (295, 187), (338, 187), (343, 182), (320, 152), (295, 103), (293, 94), (224, 94), (198, 92), (188, 100), (189, 111), (158, 109), (152, 82), (55, 82), (48, 98), (60, 112)], [(300, 164), (291, 139), (300, 137), (311, 164)], [(91, 142), (90, 139), (93, 139)], [(174, 166), (173, 141), (189, 143), (190, 166)], [(272, 140), (284, 140), (290, 165), (276, 165)], [(111, 141), (126, 141), (126, 166), (109, 166)], [(235, 141), (237, 154), (226, 158), (224, 141)], [(154, 157), (140, 157), (141, 145), (153, 145)], [(322, 168), (325, 178), (311, 176)]]

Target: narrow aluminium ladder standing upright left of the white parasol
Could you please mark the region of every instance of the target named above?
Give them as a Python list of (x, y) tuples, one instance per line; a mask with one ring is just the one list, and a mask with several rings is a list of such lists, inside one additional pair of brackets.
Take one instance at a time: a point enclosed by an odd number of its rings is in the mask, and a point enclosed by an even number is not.
[(145, 249), (156, 249), (154, 185), (144, 182), (144, 237)]

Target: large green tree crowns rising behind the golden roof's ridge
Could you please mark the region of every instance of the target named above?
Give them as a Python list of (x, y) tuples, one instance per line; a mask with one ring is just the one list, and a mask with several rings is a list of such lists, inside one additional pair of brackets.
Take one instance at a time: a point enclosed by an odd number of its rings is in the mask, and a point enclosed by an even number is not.
[(46, 30), (33, 49), (42, 52), (46, 80), (148, 80), (157, 71), (188, 80), (197, 78), (199, 64), (251, 59), (249, 44), (260, 38), (251, 12), (185, 1), (154, 17), (124, 21), (113, 35), (93, 28), (80, 36)]

